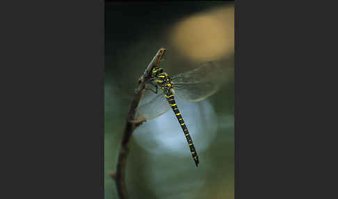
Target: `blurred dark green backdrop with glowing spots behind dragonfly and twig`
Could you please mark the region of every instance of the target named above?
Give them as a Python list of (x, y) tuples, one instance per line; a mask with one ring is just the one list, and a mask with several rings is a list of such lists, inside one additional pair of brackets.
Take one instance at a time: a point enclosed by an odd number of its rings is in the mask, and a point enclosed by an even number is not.
[(198, 168), (170, 110), (131, 138), (129, 198), (234, 198), (234, 4), (232, 1), (109, 2), (105, 7), (105, 198), (118, 198), (115, 170), (138, 78), (160, 47), (168, 74), (222, 61), (225, 83), (201, 102), (177, 103), (200, 157)]

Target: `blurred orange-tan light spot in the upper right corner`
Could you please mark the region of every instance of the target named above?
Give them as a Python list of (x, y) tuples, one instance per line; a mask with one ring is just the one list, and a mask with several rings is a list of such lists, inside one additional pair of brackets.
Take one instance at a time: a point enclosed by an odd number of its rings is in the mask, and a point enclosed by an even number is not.
[(172, 29), (172, 43), (189, 58), (210, 61), (234, 51), (234, 9), (193, 15)]

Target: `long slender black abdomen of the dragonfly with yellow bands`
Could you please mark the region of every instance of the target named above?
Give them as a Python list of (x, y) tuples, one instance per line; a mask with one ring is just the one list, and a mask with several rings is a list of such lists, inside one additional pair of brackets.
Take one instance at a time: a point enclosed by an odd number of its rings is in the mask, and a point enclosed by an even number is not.
[(172, 94), (172, 92), (168, 92), (166, 94), (166, 98), (167, 98), (168, 103), (170, 104), (170, 106), (172, 108), (172, 111), (174, 111), (177, 120), (179, 121), (179, 125), (182, 127), (183, 133), (186, 136), (186, 141), (188, 142), (188, 145), (189, 145), (189, 148), (190, 148), (190, 151), (191, 151), (191, 155), (193, 156), (193, 160), (195, 161), (196, 166), (198, 166), (198, 163), (200, 162), (198, 160), (198, 154), (197, 154), (195, 147), (193, 145), (193, 139), (189, 135), (188, 128), (186, 127), (184, 120), (182, 118), (182, 114), (179, 112), (179, 109), (178, 109), (177, 104), (175, 102), (175, 97)]

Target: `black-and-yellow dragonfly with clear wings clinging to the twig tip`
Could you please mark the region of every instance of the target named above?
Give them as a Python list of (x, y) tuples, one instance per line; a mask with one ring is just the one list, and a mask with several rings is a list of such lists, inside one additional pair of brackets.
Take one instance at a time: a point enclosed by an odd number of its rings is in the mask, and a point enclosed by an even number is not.
[(195, 165), (198, 167), (200, 163), (198, 153), (176, 99), (184, 102), (199, 102), (216, 93), (224, 79), (223, 67), (218, 63), (208, 62), (194, 70), (171, 76), (159, 67), (165, 52), (165, 48), (159, 49), (143, 74), (145, 95), (136, 109), (136, 118), (149, 120), (172, 109), (182, 127)]

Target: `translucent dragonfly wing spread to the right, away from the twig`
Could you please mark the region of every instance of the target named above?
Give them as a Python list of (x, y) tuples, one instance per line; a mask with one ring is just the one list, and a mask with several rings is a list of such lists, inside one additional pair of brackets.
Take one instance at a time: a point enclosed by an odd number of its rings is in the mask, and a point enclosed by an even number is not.
[(174, 75), (175, 95), (182, 101), (198, 102), (216, 93), (224, 80), (224, 67), (208, 62), (188, 72)]

